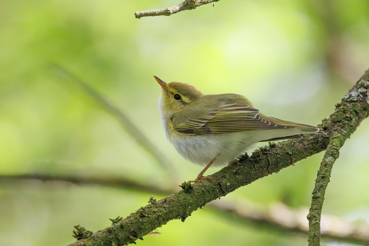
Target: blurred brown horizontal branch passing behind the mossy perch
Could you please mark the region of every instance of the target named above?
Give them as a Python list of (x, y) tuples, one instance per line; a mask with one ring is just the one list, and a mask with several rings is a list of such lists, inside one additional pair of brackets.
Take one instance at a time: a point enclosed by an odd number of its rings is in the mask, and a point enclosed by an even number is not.
[[(83, 175), (81, 174), (83, 173)], [(125, 178), (105, 176), (102, 177), (86, 175), (85, 171), (59, 174), (20, 174), (20, 175), (0, 175), (0, 182), (9, 183), (19, 180), (41, 180), (41, 181), (65, 181), (79, 185), (99, 185), (113, 188), (123, 188), (141, 192), (152, 192), (155, 194), (168, 194), (175, 192), (175, 187), (161, 187), (155, 184), (140, 184)], [(232, 222), (248, 222), (261, 225), (261, 228), (282, 233), (298, 232), (304, 235), (308, 231), (308, 223), (304, 217), (307, 208), (293, 209), (285, 204), (278, 203), (268, 209), (261, 209), (259, 206), (251, 205), (249, 202), (229, 202), (224, 200), (211, 201), (206, 205), (208, 208), (219, 211), (218, 216), (231, 219)], [(233, 215), (233, 216), (230, 216)], [(365, 222), (356, 223), (340, 219), (336, 216), (322, 216), (322, 237), (339, 242), (359, 243), (369, 245), (369, 224)], [(254, 225), (253, 225), (254, 226)]]

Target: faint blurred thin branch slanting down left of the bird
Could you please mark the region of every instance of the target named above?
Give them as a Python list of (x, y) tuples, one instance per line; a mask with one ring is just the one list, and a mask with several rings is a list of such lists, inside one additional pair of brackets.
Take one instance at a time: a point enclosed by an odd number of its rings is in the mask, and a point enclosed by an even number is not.
[(165, 155), (156, 148), (155, 144), (151, 142), (148, 138), (146, 138), (145, 134), (143, 134), (139, 128), (124, 114), (122, 110), (115, 107), (112, 103), (110, 103), (106, 98), (104, 98), (99, 92), (94, 90), (91, 86), (85, 83), (82, 79), (73, 75), (63, 67), (57, 64), (52, 64), (52, 68), (62, 75), (63, 78), (68, 78), (72, 80), (74, 83), (78, 84), (91, 98), (93, 98), (98, 104), (101, 105), (108, 113), (113, 115), (125, 129), (125, 131), (131, 135), (131, 137), (141, 146), (146, 152), (154, 157), (156, 162), (165, 170), (166, 173), (173, 176), (175, 171), (173, 170), (173, 166), (170, 164), (169, 160), (166, 159)]

